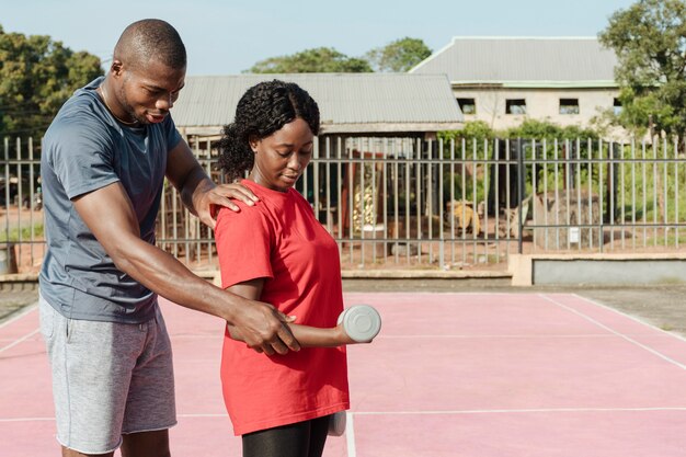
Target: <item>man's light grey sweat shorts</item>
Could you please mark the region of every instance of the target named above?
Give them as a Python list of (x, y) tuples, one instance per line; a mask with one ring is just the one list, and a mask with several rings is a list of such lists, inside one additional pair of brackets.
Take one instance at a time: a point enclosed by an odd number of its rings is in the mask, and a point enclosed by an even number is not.
[(39, 309), (62, 446), (106, 454), (123, 434), (176, 424), (171, 344), (159, 308), (141, 324), (67, 319), (43, 297)]

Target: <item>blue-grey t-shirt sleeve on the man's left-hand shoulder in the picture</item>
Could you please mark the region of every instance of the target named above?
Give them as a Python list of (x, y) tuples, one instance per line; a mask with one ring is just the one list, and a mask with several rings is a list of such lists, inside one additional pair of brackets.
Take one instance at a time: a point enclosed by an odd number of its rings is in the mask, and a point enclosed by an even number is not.
[(119, 181), (113, 142), (99, 127), (67, 124), (49, 139), (49, 163), (70, 199)]

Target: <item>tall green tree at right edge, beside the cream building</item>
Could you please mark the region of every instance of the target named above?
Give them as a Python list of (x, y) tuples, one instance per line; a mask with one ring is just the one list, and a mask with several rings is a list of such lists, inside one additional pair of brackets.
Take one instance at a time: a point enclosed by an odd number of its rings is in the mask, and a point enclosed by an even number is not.
[(598, 37), (619, 59), (619, 123), (686, 146), (686, 2), (639, 0), (615, 12)]

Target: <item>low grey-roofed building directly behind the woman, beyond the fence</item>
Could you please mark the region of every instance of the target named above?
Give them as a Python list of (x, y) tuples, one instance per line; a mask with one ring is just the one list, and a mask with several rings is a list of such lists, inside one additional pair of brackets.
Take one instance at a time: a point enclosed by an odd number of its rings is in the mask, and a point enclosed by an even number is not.
[[(403, 158), (419, 163), (418, 159), (435, 149), (427, 147), (432, 142), (426, 139), (464, 125), (445, 75), (187, 77), (172, 115), (196, 153), (209, 159), (204, 162), (208, 168), (216, 152), (215, 141), (222, 127), (232, 122), (242, 94), (258, 82), (272, 79), (297, 83), (319, 105), (321, 127), (312, 153), (315, 163), (296, 188), (312, 204), (320, 220), (328, 227), (335, 221), (339, 230), (362, 230), (363, 220), (375, 222), (381, 217), (378, 208), (386, 198), (385, 182), (395, 179), (381, 160)], [(213, 173), (220, 182), (220, 173)], [(407, 182), (420, 185), (416, 176), (408, 174)], [(368, 201), (366, 210), (359, 209), (364, 206), (362, 199)], [(168, 206), (172, 207), (171, 203)]]

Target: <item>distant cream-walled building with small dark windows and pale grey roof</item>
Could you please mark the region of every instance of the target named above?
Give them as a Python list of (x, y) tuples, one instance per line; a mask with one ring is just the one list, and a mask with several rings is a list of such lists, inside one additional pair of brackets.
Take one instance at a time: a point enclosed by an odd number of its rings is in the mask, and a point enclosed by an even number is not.
[(588, 126), (618, 110), (616, 65), (595, 37), (455, 37), (410, 73), (447, 75), (465, 121), (500, 130), (526, 118)]

